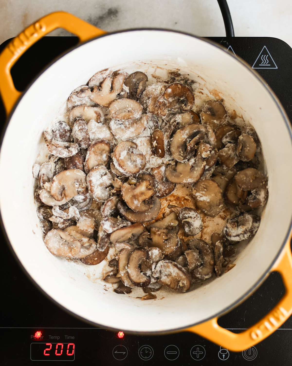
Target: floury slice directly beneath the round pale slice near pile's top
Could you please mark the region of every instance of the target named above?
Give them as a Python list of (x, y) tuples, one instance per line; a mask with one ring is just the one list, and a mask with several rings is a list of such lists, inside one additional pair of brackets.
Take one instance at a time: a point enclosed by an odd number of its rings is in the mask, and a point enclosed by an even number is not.
[(122, 141), (126, 141), (140, 135), (147, 127), (149, 119), (149, 114), (142, 115), (139, 119), (123, 121), (112, 119), (110, 122), (111, 131), (115, 137), (120, 138)]

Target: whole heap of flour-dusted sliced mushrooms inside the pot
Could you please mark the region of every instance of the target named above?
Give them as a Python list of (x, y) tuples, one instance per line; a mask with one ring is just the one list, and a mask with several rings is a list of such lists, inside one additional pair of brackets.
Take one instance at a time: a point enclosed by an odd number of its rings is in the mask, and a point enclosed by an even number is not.
[(198, 109), (194, 84), (171, 70), (103, 70), (72, 91), (66, 122), (43, 132), (47, 160), (32, 173), (45, 245), (81, 266), (104, 261), (117, 294), (141, 287), (155, 299), (219, 277), (260, 226), (257, 134), (224, 100)]

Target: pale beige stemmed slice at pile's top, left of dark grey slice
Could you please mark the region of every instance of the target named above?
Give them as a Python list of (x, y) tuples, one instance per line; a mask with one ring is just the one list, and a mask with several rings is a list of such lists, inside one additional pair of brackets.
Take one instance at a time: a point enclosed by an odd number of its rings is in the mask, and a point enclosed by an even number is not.
[(96, 104), (108, 107), (122, 91), (124, 79), (124, 74), (118, 74), (113, 79), (109, 76), (106, 77), (101, 83), (101, 89), (98, 86), (93, 88), (90, 95), (91, 100)]

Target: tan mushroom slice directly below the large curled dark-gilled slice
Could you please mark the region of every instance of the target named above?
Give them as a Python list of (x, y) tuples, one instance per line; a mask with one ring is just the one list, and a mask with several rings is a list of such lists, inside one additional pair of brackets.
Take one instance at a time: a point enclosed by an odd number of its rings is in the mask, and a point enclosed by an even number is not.
[(176, 166), (168, 165), (165, 176), (173, 183), (195, 183), (203, 175), (205, 165), (201, 157), (195, 157), (188, 163), (178, 162)]

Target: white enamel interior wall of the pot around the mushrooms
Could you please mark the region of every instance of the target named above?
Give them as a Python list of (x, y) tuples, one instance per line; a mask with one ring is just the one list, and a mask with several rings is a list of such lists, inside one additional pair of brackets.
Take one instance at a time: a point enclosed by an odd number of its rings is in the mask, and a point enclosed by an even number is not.
[[(34, 201), (32, 165), (42, 132), (65, 110), (73, 89), (97, 71), (180, 69), (197, 81), (203, 99), (223, 98), (257, 131), (269, 178), (269, 199), (255, 237), (218, 279), (187, 293), (164, 291), (163, 299), (141, 301), (142, 290), (118, 295), (104, 289), (97, 266), (53, 256), (43, 243)], [(127, 68), (128, 67), (128, 68)], [(209, 93), (209, 94), (208, 94)], [(166, 332), (223, 314), (265, 278), (280, 253), (292, 216), (291, 130), (272, 91), (242, 61), (219, 46), (186, 34), (134, 30), (89, 41), (48, 67), (26, 90), (12, 113), (0, 154), (0, 209), (11, 246), (28, 275), (59, 305), (87, 321), (132, 332)], [(88, 268), (91, 267), (91, 268)], [(85, 274), (85, 275), (84, 275)], [(157, 293), (159, 294), (159, 292)], [(161, 296), (158, 296), (161, 298)]]

